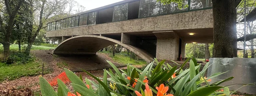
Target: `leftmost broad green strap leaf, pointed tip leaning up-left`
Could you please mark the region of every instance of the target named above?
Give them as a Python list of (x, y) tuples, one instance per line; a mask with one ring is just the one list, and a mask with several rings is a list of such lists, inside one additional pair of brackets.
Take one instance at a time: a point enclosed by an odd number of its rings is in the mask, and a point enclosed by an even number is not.
[(42, 96), (57, 96), (52, 86), (42, 76), (39, 76), (39, 85)]

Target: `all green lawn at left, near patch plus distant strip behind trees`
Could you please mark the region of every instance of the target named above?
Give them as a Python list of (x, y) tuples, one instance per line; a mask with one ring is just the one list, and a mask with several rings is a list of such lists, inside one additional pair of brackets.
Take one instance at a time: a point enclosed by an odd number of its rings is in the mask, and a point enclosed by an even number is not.
[[(21, 50), (24, 51), (26, 48), (26, 45), (21, 46)], [(31, 50), (49, 50), (54, 49), (55, 47), (46, 47), (46, 46), (32, 46)], [(0, 56), (3, 56), (3, 45), (0, 45)], [(17, 44), (12, 44), (10, 46), (10, 56), (15, 56), (15, 58), (18, 58), (18, 60), (21, 60), (19, 62), (16, 62), (14, 64), (6, 64), (3, 62), (0, 62), (0, 82), (4, 81), (6, 79), (8, 80), (14, 80), (20, 77), (24, 76), (35, 76), (42, 74), (42, 64), (43, 62), (36, 60), (33, 56), (31, 59), (26, 59), (24, 55), (20, 55), (20, 52), (18, 51), (19, 47)], [(17, 54), (19, 53), (19, 54)], [(14, 54), (14, 55), (12, 55)], [(21, 52), (22, 54), (22, 52)], [(25, 59), (24, 59), (24, 58)], [(14, 58), (14, 57), (10, 57)], [(17, 59), (16, 59), (17, 60)], [(23, 61), (26, 61), (25, 63)], [(23, 63), (20, 63), (23, 62)], [(49, 73), (50, 71), (47, 68), (47, 65), (45, 64), (44, 67), (44, 74)]]

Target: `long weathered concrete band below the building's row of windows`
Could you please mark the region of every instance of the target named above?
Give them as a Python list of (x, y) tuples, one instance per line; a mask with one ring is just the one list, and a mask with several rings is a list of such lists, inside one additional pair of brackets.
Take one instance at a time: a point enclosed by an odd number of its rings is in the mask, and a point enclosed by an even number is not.
[(198, 28), (213, 28), (212, 9), (47, 31), (46, 37)]

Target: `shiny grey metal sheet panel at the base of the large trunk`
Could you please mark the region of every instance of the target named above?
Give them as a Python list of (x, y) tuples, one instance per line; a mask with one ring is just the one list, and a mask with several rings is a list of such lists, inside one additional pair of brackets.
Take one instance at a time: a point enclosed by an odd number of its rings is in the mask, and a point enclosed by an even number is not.
[[(211, 65), (212, 64), (212, 65)], [(230, 81), (221, 85), (231, 84), (250, 84), (256, 82), (256, 58), (211, 58), (208, 68), (207, 77), (217, 72), (226, 72), (215, 78), (212, 78), (211, 83), (227, 79), (234, 76)], [(256, 84), (255, 84), (256, 85)], [(230, 90), (237, 90), (242, 85), (229, 87)], [(238, 90), (241, 93), (256, 95), (256, 86), (248, 85)]]

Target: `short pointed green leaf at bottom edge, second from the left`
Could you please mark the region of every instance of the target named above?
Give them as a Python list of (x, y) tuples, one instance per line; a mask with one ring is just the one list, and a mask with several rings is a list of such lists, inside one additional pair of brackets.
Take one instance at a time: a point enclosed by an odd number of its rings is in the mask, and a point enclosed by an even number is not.
[(60, 80), (57, 79), (58, 82), (58, 96), (67, 96), (68, 92), (70, 92), (70, 90), (68, 89), (68, 87)]

